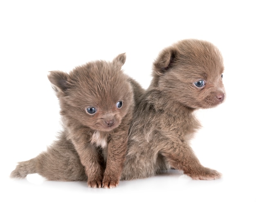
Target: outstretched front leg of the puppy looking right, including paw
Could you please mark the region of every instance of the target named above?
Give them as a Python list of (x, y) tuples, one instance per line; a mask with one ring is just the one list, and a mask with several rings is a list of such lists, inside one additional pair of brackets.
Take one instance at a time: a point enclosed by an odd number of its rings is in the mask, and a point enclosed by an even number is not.
[(162, 151), (174, 168), (183, 170), (184, 174), (194, 180), (216, 180), (221, 177), (221, 173), (202, 166), (198, 158), (194, 155), (190, 146), (182, 141), (168, 142), (168, 146)]

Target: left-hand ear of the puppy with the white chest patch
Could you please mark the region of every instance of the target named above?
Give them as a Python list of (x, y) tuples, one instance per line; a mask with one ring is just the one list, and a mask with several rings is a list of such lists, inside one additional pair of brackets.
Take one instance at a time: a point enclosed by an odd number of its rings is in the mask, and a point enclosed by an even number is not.
[(63, 92), (70, 87), (68, 83), (69, 75), (65, 72), (51, 71), (50, 74), (48, 74), (48, 79), (54, 85), (54, 88)]

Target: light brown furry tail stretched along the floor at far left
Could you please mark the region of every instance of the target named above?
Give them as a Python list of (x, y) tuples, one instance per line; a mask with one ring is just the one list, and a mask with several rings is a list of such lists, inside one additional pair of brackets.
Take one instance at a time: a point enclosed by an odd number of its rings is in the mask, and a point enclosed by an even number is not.
[(15, 170), (11, 172), (10, 177), (25, 178), (28, 174), (36, 173), (36, 158), (25, 162), (19, 162)]

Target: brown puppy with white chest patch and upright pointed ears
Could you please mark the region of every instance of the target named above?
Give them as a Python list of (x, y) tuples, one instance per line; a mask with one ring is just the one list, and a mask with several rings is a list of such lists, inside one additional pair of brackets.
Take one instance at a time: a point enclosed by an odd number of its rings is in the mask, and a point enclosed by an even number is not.
[(112, 62), (87, 63), (69, 74), (50, 72), (63, 132), (47, 151), (20, 162), (11, 177), (39, 173), (48, 180), (87, 180), (94, 188), (119, 184), (135, 102), (143, 93), (121, 71), (125, 61), (126, 54), (120, 54)]

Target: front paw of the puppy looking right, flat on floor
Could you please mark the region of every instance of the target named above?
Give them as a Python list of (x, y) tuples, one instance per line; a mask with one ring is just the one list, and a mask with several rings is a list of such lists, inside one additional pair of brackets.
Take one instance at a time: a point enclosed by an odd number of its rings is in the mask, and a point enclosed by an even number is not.
[(193, 180), (216, 180), (222, 176), (222, 174), (218, 171), (205, 167), (202, 167), (195, 171), (190, 171), (189, 173), (184, 172), (184, 174), (188, 175)]

